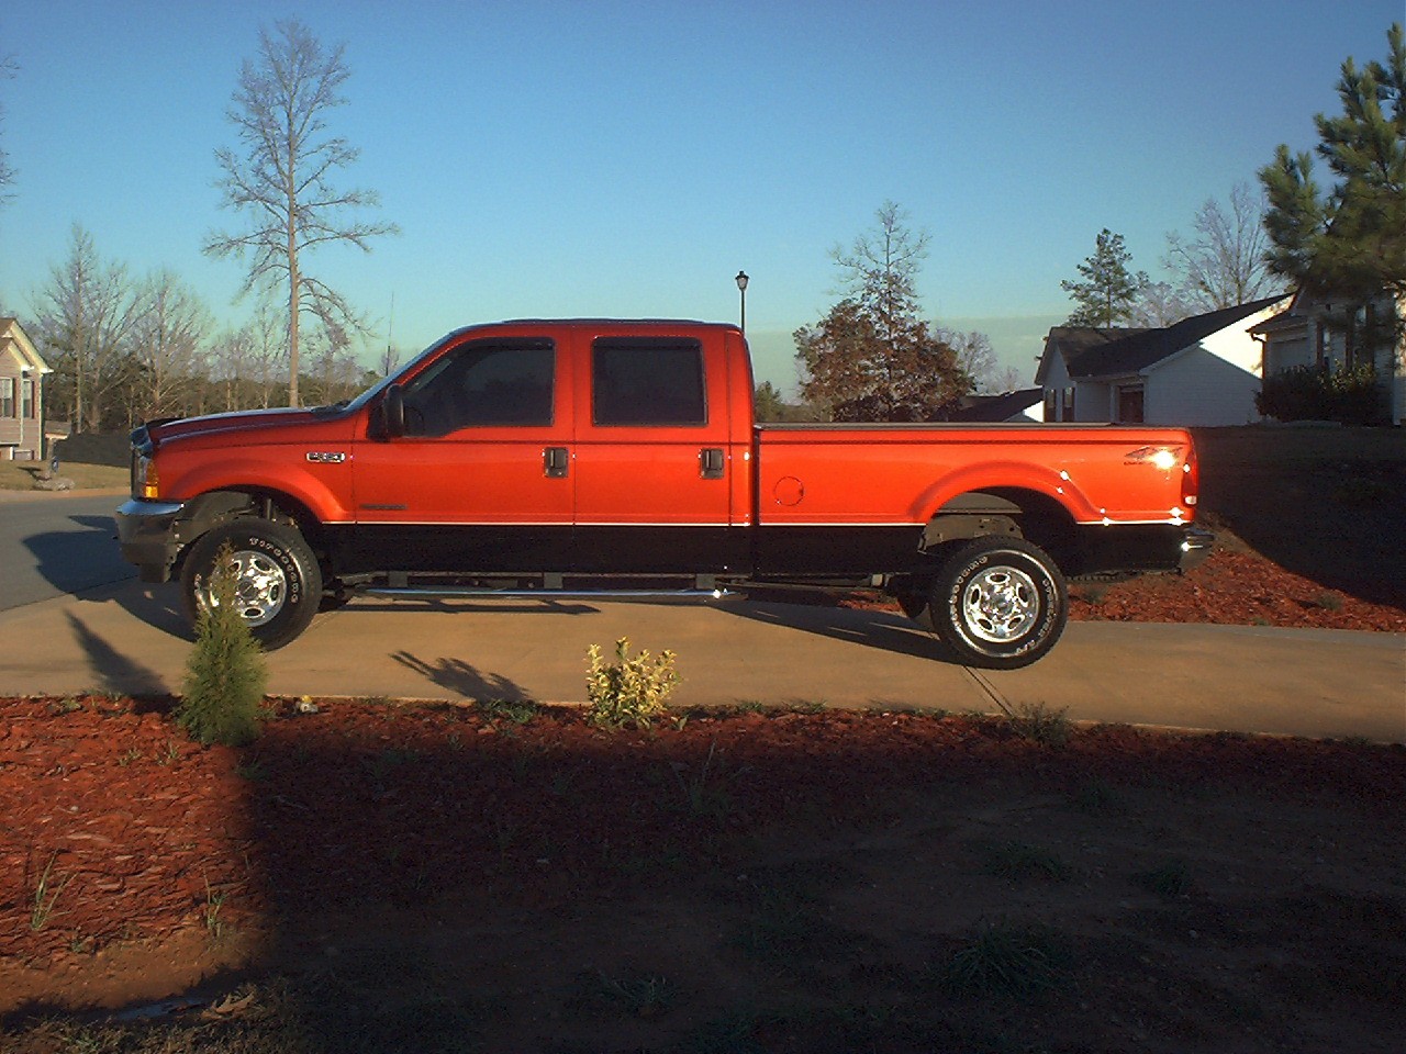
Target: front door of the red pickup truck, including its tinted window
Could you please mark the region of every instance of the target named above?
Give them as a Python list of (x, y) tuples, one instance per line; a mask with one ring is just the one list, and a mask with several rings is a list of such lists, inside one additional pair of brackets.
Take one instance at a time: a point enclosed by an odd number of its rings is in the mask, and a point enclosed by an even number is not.
[(405, 436), (357, 444), (356, 548), (391, 571), (565, 571), (569, 363), (548, 337), (449, 349), (406, 381)]

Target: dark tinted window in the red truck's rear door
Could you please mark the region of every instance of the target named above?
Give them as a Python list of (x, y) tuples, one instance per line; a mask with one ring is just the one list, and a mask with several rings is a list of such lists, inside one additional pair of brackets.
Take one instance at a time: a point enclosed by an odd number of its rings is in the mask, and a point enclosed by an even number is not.
[(703, 347), (696, 340), (598, 340), (591, 419), (600, 426), (707, 424)]

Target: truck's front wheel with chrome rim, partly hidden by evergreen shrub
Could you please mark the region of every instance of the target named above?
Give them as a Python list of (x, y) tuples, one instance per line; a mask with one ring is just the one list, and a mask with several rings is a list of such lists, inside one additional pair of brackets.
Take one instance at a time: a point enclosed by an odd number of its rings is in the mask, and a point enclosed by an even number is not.
[(191, 625), (209, 604), (211, 571), (228, 542), (239, 569), (238, 592), (249, 630), (264, 651), (308, 628), (322, 601), (322, 569), (302, 535), (269, 520), (236, 520), (201, 535), (181, 571), (181, 600)]

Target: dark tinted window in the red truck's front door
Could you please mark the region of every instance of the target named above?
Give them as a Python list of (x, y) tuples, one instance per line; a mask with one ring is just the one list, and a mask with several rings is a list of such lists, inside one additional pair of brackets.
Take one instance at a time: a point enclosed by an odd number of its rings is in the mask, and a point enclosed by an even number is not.
[(457, 347), (405, 386), (405, 434), (550, 426), (555, 363), (546, 339)]

